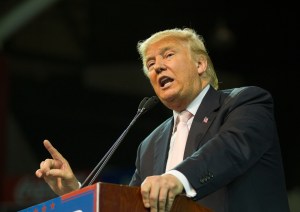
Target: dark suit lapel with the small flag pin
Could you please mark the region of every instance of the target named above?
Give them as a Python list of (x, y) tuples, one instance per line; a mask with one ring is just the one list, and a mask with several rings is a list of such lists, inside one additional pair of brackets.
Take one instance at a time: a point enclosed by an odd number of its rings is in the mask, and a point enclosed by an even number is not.
[(219, 107), (220, 93), (210, 88), (194, 117), (185, 147), (184, 158), (192, 155), (197, 150), (203, 136), (214, 121)]

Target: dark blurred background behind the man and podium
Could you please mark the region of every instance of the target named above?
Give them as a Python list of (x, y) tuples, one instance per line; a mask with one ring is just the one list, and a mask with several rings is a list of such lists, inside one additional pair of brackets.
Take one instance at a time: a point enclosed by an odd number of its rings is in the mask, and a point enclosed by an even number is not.
[[(220, 89), (274, 97), (291, 211), (300, 211), (299, 19), (288, 2), (0, 1), (0, 211), (56, 197), (35, 178), (49, 139), (84, 180), (154, 92), (139, 40), (191, 27), (203, 35)], [(171, 111), (145, 113), (97, 179), (129, 183), (136, 149)]]

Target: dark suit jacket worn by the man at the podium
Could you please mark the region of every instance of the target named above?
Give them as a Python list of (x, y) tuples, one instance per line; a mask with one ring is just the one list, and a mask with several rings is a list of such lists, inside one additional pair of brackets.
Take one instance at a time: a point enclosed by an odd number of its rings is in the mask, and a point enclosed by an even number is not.
[[(259, 87), (205, 95), (194, 117), (182, 172), (194, 198), (215, 212), (288, 212), (273, 99)], [(130, 185), (165, 172), (173, 118), (139, 146)]]

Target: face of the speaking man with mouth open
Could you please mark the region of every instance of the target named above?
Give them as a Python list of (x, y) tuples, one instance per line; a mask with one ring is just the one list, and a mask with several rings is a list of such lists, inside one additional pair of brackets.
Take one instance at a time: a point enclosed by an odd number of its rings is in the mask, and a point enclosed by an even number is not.
[(185, 109), (201, 91), (203, 66), (192, 58), (187, 43), (164, 38), (148, 47), (145, 58), (152, 87), (168, 108)]

